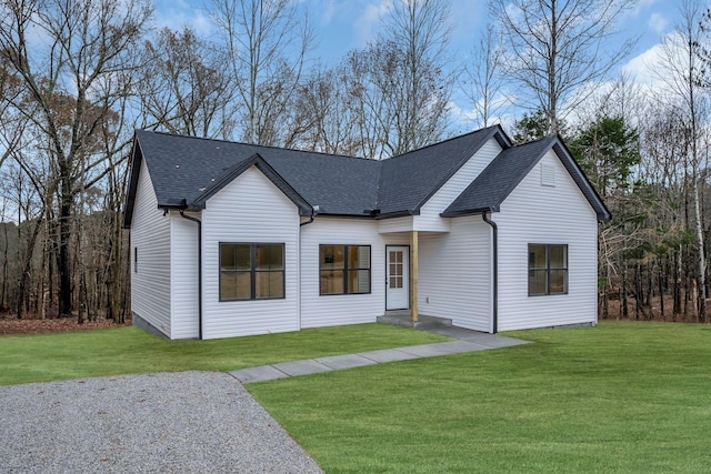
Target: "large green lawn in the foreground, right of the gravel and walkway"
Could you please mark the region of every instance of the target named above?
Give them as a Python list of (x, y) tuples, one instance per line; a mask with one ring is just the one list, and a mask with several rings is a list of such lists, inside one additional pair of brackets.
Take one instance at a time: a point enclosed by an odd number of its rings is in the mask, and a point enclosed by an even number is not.
[(710, 326), (511, 335), (535, 344), (247, 386), (328, 473), (708, 472)]

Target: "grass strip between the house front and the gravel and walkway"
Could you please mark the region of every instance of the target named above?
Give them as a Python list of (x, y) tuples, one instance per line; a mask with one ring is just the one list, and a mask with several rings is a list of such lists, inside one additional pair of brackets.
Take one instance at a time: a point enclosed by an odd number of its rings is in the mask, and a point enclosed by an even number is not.
[(138, 327), (0, 336), (0, 385), (144, 372), (234, 371), (443, 340), (385, 324), (210, 341), (164, 341)]

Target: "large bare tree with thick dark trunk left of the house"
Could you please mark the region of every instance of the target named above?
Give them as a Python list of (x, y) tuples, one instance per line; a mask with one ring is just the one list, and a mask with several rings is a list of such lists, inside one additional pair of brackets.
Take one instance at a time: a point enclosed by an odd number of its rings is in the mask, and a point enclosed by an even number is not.
[[(151, 16), (144, 0), (7, 0), (0, 4), (0, 54), (19, 78), (28, 119), (58, 178), (59, 310), (72, 311), (72, 209), (81, 190), (107, 173), (97, 131), (119, 89), (128, 56)], [(40, 34), (38, 34), (40, 32)], [(41, 38), (42, 44), (38, 43)], [(103, 95), (107, 100), (101, 100)], [(18, 110), (28, 109), (14, 103)], [(119, 150), (112, 150), (119, 153)]]

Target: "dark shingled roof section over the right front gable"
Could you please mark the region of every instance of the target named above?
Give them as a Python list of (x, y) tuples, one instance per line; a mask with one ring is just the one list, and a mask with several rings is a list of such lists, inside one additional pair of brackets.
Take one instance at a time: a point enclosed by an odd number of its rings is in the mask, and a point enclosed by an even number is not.
[(527, 142), (499, 153), (479, 177), (442, 212), (442, 216), (455, 218), (481, 212), (499, 212), (501, 203), (550, 149), (553, 149), (578, 186), (580, 186), (588, 202), (598, 214), (598, 220), (610, 220), (610, 212), (570, 152), (562, 144), (560, 137), (557, 135)]

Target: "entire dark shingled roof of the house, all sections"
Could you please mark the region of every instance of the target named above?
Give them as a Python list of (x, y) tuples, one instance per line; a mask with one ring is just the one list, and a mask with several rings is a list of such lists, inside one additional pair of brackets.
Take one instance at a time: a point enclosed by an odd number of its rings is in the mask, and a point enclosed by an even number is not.
[(388, 160), (261, 147), (221, 140), (136, 131), (131, 182), (123, 224), (130, 226), (138, 175), (146, 160), (159, 208), (200, 210), (207, 200), (250, 167), (257, 167), (302, 215), (388, 218), (418, 214), (432, 196), (488, 140), (504, 149), (442, 213), (457, 216), (498, 211), (499, 205), (551, 147), (568, 157), (567, 169), (598, 216), (604, 204), (558, 138), (511, 148), (501, 127), (489, 127)]

